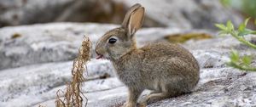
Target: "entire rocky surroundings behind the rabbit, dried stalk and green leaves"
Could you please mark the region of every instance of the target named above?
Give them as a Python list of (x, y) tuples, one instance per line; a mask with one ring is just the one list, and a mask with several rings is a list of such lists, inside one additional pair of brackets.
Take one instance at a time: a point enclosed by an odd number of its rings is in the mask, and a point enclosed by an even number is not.
[[(155, 106), (256, 106), (256, 75), (226, 65), (230, 48), (255, 51), (231, 36), (218, 37), (214, 26), (231, 20), (237, 27), (251, 17), (248, 27), (255, 30), (256, 0), (0, 0), (0, 107), (55, 106), (56, 92), (71, 81), (82, 38), (89, 37), (93, 49), (135, 3), (146, 9), (136, 34), (139, 47), (178, 42), (201, 67), (196, 94)], [(256, 37), (250, 42), (255, 44)], [(91, 59), (87, 68), (82, 92), (88, 107), (125, 102), (126, 88), (108, 60)]]

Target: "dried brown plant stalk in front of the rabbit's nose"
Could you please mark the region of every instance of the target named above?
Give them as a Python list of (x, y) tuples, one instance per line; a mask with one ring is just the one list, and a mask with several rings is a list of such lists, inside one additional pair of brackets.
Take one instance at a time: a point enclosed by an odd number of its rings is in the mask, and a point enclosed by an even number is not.
[[(84, 68), (85, 63), (90, 60), (90, 48), (91, 42), (88, 37), (84, 37), (82, 46), (79, 48), (79, 56), (77, 59), (73, 60), (72, 69), (72, 82), (67, 83), (66, 92), (59, 90), (56, 94), (55, 106), (56, 107), (82, 107), (83, 101), (85, 101), (84, 106), (87, 104), (87, 99), (81, 92), (81, 85), (84, 82)], [(64, 99), (61, 100), (60, 92), (64, 93)], [(84, 100), (85, 99), (85, 100)]]

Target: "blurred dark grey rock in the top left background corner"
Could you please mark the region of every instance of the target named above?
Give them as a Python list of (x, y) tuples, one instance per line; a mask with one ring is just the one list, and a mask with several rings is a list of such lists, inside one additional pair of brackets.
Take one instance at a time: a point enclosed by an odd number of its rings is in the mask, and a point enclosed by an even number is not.
[(11, 0), (0, 1), (0, 26), (24, 25), (54, 20), (71, 0)]

